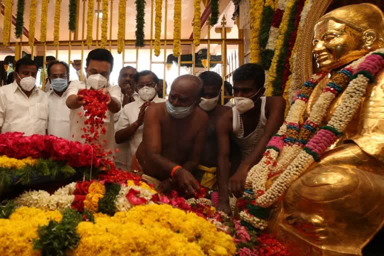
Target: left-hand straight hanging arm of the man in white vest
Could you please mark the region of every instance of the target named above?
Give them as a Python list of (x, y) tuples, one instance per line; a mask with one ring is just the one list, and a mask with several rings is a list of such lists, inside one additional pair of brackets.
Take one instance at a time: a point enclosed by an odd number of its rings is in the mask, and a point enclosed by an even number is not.
[(232, 111), (226, 112), (216, 122), (217, 136), (217, 184), (218, 184), (218, 205), (217, 209), (226, 213), (230, 212), (228, 198), (229, 180), (229, 135), (232, 131)]

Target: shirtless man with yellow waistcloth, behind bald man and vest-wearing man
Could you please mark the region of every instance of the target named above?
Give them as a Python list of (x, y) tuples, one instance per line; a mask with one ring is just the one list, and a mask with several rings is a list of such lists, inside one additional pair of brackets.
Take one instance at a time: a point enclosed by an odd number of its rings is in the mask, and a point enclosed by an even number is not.
[(208, 114), (209, 126), (205, 135), (200, 164), (197, 166), (194, 176), (197, 180), (200, 180), (202, 186), (215, 189), (217, 166), (216, 120), (230, 108), (218, 102), (222, 86), (222, 78), (218, 73), (204, 71), (198, 77), (202, 80), (202, 97), (200, 98), (199, 107)]

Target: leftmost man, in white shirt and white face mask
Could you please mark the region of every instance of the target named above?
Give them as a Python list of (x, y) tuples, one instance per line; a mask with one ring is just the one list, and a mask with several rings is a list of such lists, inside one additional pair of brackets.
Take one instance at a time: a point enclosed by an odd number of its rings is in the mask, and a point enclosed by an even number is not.
[(0, 87), (0, 132), (45, 134), (48, 99), (36, 87), (36, 73), (33, 60), (20, 58), (15, 64), (14, 81)]

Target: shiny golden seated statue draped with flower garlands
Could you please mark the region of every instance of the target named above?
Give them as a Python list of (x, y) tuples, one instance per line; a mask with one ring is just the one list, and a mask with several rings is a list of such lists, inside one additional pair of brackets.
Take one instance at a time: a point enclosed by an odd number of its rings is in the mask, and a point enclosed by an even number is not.
[[(314, 27), (313, 54), (330, 76), (382, 47), (384, 14), (373, 4), (334, 9)], [(292, 255), (362, 255), (384, 224), (384, 72), (375, 80), (344, 136), (290, 185), (271, 214), (270, 231)], [(319, 82), (307, 112), (328, 81)]]

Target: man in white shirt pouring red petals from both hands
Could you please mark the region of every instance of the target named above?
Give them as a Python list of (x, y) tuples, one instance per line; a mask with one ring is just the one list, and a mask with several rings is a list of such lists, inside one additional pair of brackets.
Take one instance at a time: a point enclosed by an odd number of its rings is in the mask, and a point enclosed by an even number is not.
[(109, 94), (108, 110), (105, 113), (106, 118), (103, 120), (106, 132), (99, 137), (99, 142), (106, 152), (113, 152), (113, 115), (121, 107), (120, 88), (118, 86), (111, 86), (108, 82), (112, 67), (113, 56), (110, 51), (101, 48), (89, 51), (85, 67), (87, 77), (84, 82), (78, 80), (71, 81), (66, 97), (66, 105), (71, 109), (69, 114), (70, 137), (72, 140), (83, 143), (85, 139), (81, 138), (81, 135), (84, 134), (82, 128), (87, 117), (84, 116), (84, 108), (82, 107), (85, 101), (77, 92), (81, 89), (101, 89), (104, 93)]

